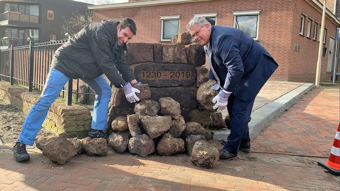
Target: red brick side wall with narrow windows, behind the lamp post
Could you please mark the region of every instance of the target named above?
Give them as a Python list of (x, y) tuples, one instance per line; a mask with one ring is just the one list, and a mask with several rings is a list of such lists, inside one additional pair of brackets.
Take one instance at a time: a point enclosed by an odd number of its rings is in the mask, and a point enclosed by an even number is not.
[[(303, 35), (300, 35), (300, 17), (301, 14), (306, 15), (304, 22)], [(311, 38), (307, 38), (307, 25), (308, 19), (312, 19), (311, 26)], [(296, 1), (296, 11), (294, 12), (293, 28), (292, 28), (292, 41), (291, 41), (291, 63), (289, 67), (288, 81), (294, 82), (315, 82), (316, 68), (318, 62), (319, 52), (319, 32), (321, 27), (322, 13), (312, 7), (305, 0)], [(313, 24), (317, 21), (317, 36), (316, 40), (312, 39)], [(325, 57), (322, 57), (321, 76), (320, 81), (329, 80), (326, 79), (327, 75), (327, 62), (328, 62), (328, 51), (329, 51), (329, 38), (335, 38), (336, 25), (333, 24), (329, 19), (325, 19), (325, 28), (327, 28), (326, 41), (323, 47), (327, 48)], [(322, 41), (322, 37), (321, 37)], [(300, 45), (300, 51), (294, 51), (293, 45)], [(335, 54), (333, 54), (335, 55)]]

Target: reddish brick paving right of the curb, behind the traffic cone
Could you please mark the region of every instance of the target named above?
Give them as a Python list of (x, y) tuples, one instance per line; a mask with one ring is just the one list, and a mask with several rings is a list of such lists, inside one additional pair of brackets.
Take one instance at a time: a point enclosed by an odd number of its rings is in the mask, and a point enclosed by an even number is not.
[(329, 157), (339, 125), (339, 85), (314, 88), (252, 141), (252, 152)]

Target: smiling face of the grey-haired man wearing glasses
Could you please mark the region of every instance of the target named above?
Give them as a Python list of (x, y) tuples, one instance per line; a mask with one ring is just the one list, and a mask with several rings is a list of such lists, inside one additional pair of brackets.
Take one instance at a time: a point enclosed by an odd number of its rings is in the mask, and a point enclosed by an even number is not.
[(195, 24), (189, 30), (191, 36), (195, 35), (193, 39), (202, 46), (208, 44), (210, 38), (210, 31), (211, 26), (209, 26), (209, 24), (205, 24), (203, 25), (203, 27), (202, 25)]

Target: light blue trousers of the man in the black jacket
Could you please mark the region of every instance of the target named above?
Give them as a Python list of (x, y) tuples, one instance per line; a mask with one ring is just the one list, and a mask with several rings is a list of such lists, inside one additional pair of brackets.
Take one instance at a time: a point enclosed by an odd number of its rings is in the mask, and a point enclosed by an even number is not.
[[(69, 77), (51, 67), (43, 92), (41, 92), (38, 101), (33, 105), (23, 122), (18, 142), (33, 145), (35, 137), (46, 119), (49, 108), (54, 100), (59, 97), (61, 90), (69, 79)], [(81, 78), (81, 80), (96, 92), (91, 128), (105, 130), (111, 87), (102, 75), (94, 79)]]

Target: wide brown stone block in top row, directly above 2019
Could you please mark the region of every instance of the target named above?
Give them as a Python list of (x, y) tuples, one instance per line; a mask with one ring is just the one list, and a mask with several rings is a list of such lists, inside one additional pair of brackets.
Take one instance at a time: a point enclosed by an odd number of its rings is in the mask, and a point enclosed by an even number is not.
[(184, 45), (162, 45), (163, 63), (187, 64), (187, 55)]

